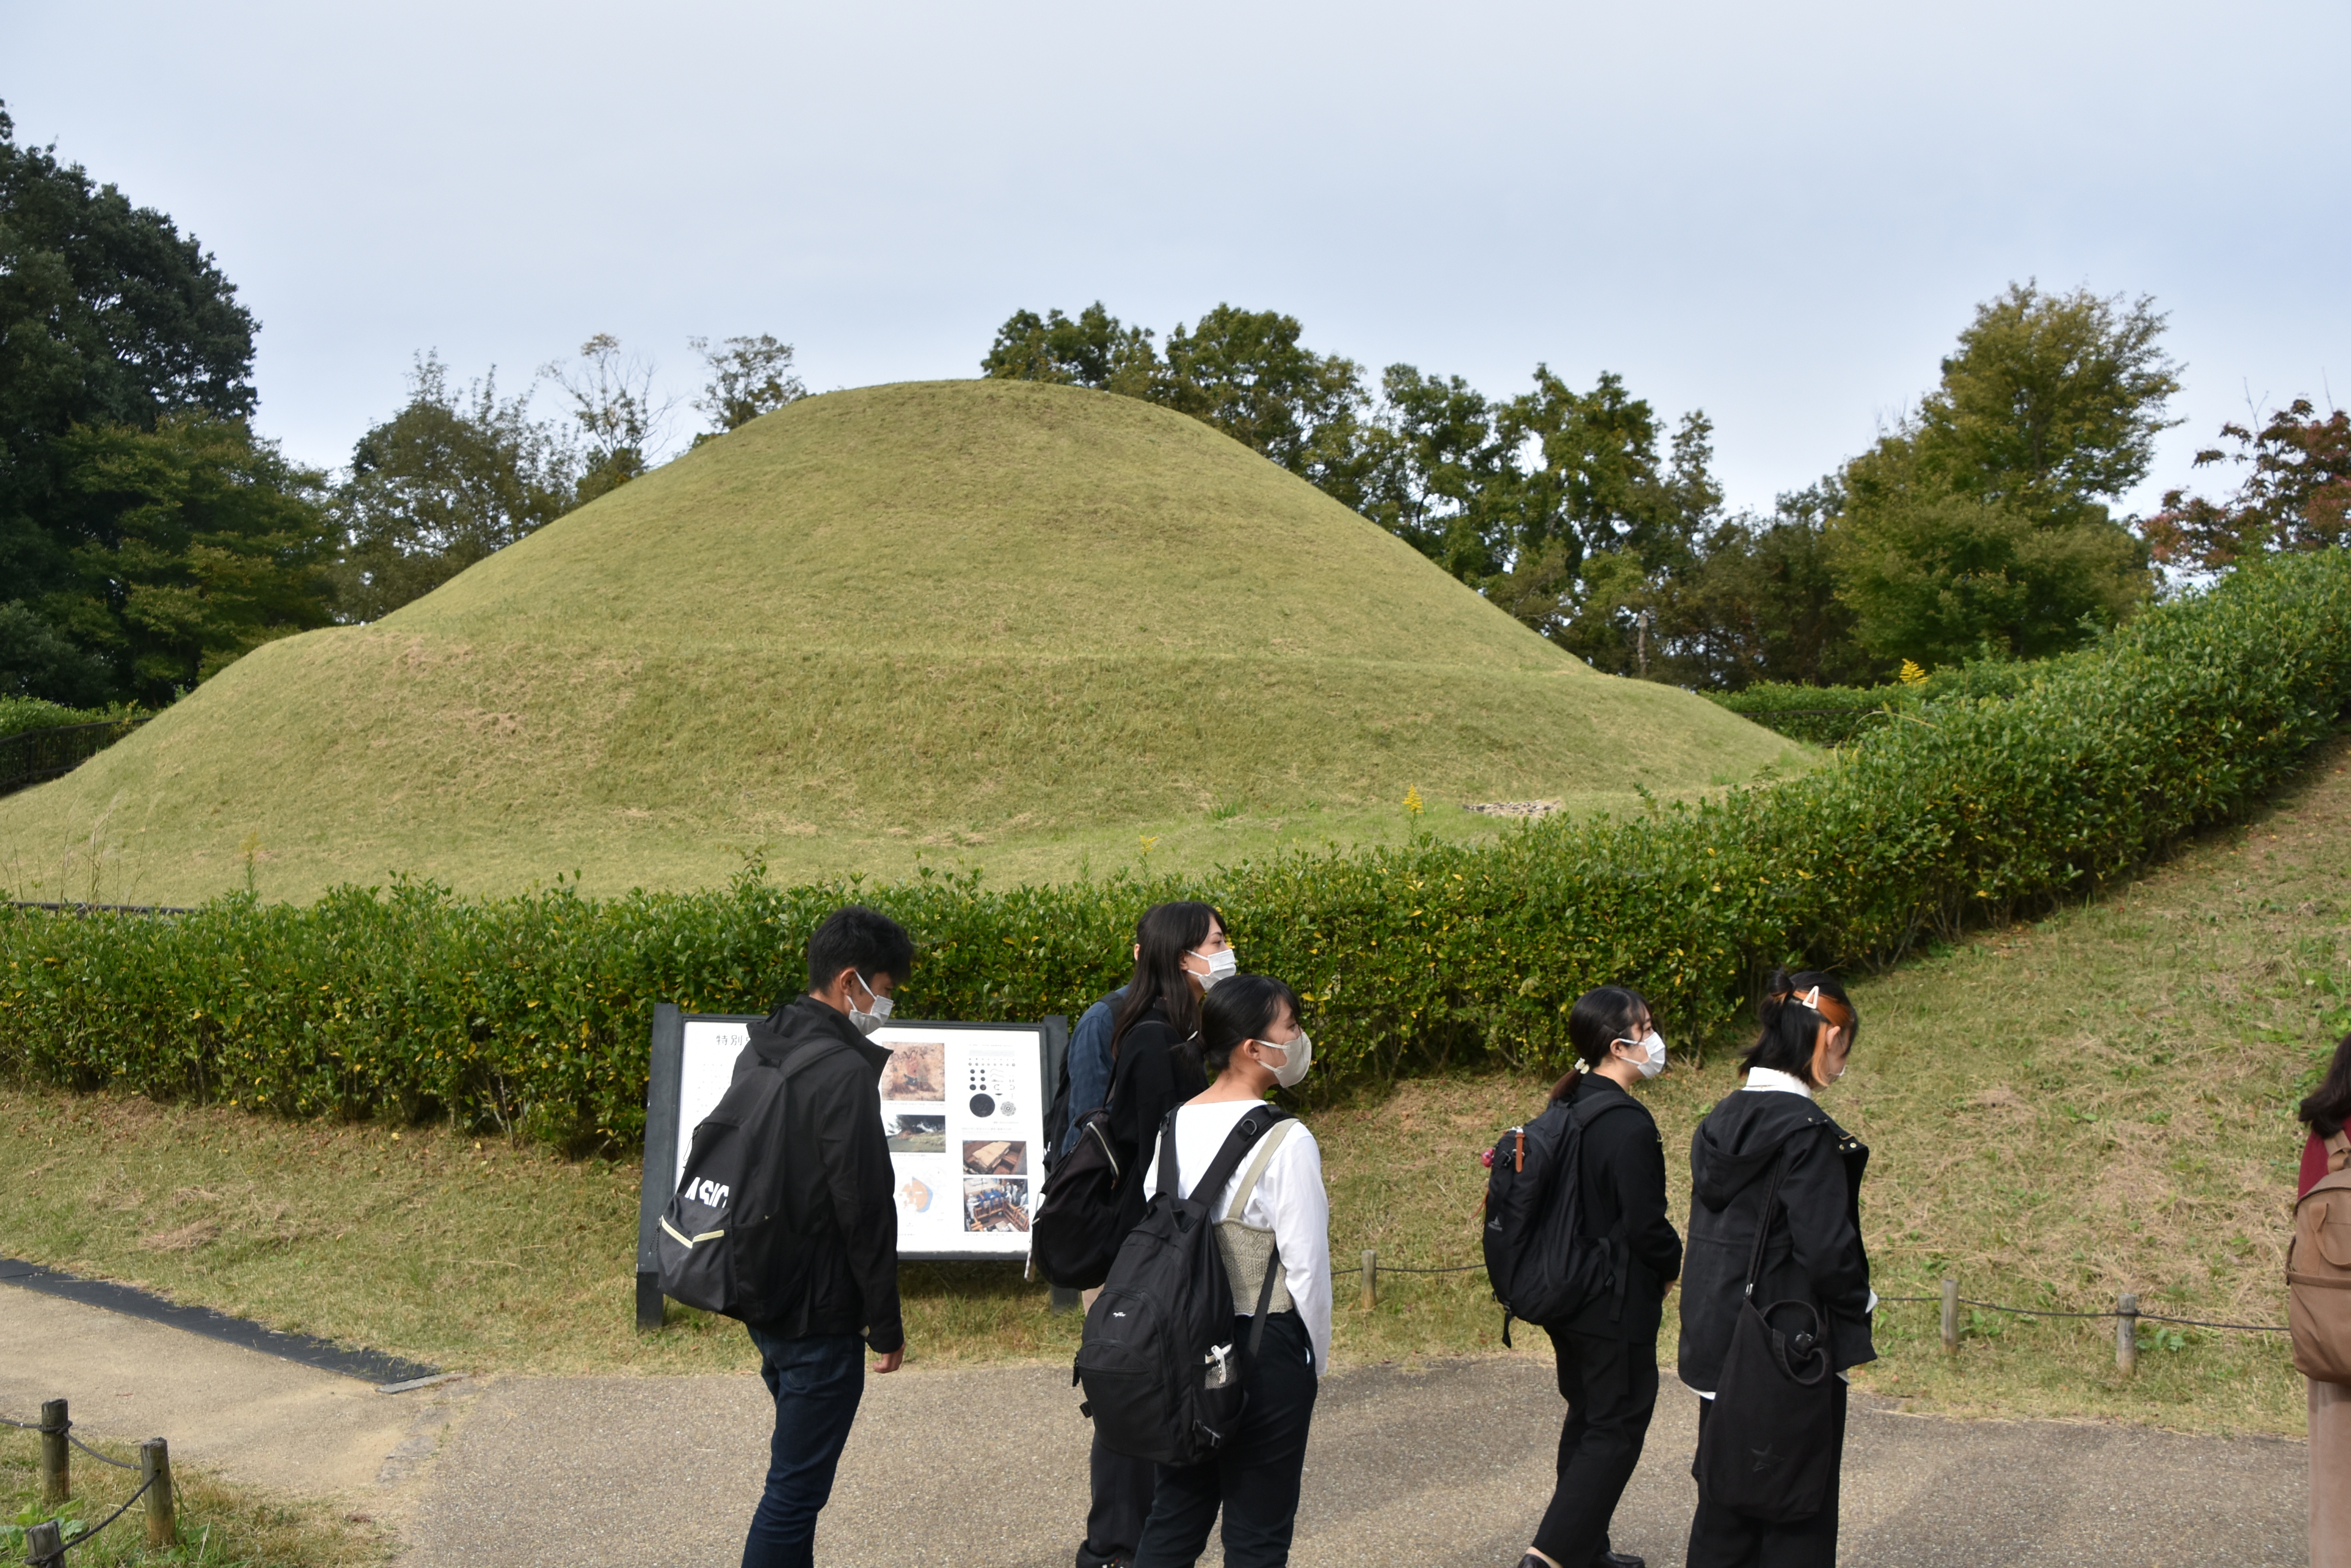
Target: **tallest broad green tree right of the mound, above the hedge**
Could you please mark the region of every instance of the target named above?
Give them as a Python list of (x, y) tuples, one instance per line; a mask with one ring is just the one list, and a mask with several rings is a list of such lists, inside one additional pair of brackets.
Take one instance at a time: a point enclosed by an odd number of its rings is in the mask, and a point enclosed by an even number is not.
[(2179, 390), (2151, 301), (2010, 284), (1942, 386), (1846, 465), (1838, 597), (1878, 661), (2041, 658), (2130, 616), (2146, 548), (2106, 510), (2151, 463)]

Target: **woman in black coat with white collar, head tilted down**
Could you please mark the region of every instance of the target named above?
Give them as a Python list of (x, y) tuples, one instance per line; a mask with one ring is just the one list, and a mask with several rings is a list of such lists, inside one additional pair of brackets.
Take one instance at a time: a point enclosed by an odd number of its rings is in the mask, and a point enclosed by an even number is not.
[[(1690, 1248), (1681, 1274), (1681, 1380), (1697, 1389), (1707, 1441), (1723, 1356), (1747, 1293), (1747, 1267), (1773, 1178), (1770, 1237), (1756, 1302), (1808, 1300), (1836, 1373), (1836, 1453), (1820, 1512), (1766, 1523), (1707, 1497), (1700, 1476), (1688, 1568), (1831, 1568), (1836, 1486), (1846, 1441), (1846, 1368), (1874, 1361), (1869, 1253), (1862, 1248), (1862, 1168), (1869, 1150), (1813, 1093), (1846, 1072), (1860, 1018), (1836, 976), (1780, 971), (1763, 997), (1763, 1034), (1747, 1053), (1747, 1086), (1723, 1095), (1690, 1138)], [(1782, 1175), (1784, 1166), (1784, 1175)], [(1787, 1328), (1787, 1326), (1782, 1326)]]

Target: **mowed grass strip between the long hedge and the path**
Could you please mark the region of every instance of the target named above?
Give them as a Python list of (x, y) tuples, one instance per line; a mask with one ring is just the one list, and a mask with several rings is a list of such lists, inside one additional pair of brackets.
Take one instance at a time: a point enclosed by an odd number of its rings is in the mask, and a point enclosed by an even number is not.
[[(2290, 1105), (2351, 1027), (2351, 748), (2259, 820), (2031, 926), (1980, 933), (1855, 999), (1829, 1110), (1871, 1145), (1864, 1225), (1883, 1295), (1963, 1295), (2283, 1324), (2302, 1135)], [(1674, 1020), (1662, 1020), (1672, 1034)], [(1716, 1051), (1648, 1091), (1676, 1208), (1686, 1147), (1737, 1084)], [(1476, 1152), (1547, 1079), (1364, 1088), (1314, 1107), (1340, 1269), (1338, 1359), (1500, 1352), (1483, 1279), (1382, 1274), (1476, 1258)], [(465, 1371), (750, 1371), (734, 1324), (630, 1326), (637, 1166), (437, 1128), (289, 1124), (136, 1098), (0, 1091), (0, 1253), (139, 1281), (277, 1328)], [(912, 1359), (1067, 1356), (1077, 1316), (1006, 1267), (907, 1265)], [(2283, 1335), (2184, 1331), (2114, 1371), (2114, 1326), (1970, 1314), (1947, 1359), (1933, 1305), (1888, 1305), (1864, 1387), (1921, 1410), (2295, 1432)], [(1672, 1363), (1674, 1321), (1662, 1352)], [(1547, 1354), (1540, 1333), (1516, 1354)]]

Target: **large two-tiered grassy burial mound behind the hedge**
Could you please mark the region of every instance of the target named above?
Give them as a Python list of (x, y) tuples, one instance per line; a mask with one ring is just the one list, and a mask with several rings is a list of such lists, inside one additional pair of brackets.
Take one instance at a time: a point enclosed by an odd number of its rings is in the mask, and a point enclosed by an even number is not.
[(1145, 853), (1486, 830), (1796, 764), (1596, 675), (1180, 414), (1013, 381), (797, 402), (376, 625), (268, 644), (0, 802), (16, 896), (675, 889), (917, 853), (1049, 879)]

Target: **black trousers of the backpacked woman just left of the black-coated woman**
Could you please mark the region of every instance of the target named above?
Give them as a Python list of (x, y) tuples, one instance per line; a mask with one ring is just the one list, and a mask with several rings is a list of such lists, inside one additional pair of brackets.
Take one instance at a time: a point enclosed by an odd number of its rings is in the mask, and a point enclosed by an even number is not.
[(1585, 1568), (1608, 1554), (1608, 1519), (1641, 1462), (1657, 1410), (1657, 1342), (1554, 1328), (1552, 1352), (1568, 1420), (1559, 1427), (1559, 1483), (1535, 1528), (1535, 1552), (1561, 1568)]

